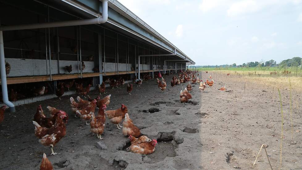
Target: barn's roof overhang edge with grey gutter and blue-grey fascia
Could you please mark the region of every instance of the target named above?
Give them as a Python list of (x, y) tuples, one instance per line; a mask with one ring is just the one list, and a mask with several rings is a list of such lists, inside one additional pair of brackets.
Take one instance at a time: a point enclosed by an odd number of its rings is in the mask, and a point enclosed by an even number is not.
[[(76, 7), (87, 14), (98, 17), (102, 13), (102, 3), (99, 0), (61, 0), (73, 7)], [(111, 25), (121, 28), (141, 39), (144, 39), (153, 45), (156, 45), (169, 53), (174, 53), (176, 56), (195, 64), (191, 58), (184, 54), (180, 49), (161, 36), (157, 31), (135, 15), (132, 11), (126, 8), (117, 0), (108, 0), (108, 21)]]

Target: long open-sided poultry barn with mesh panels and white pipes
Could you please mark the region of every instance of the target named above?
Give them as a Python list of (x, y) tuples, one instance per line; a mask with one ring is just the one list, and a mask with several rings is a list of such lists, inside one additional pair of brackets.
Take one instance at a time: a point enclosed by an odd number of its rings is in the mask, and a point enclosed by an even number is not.
[[(57, 97), (60, 82), (75, 80), (94, 89), (108, 78), (130, 82), (191, 64), (117, 0), (0, 0), (0, 106), (11, 112)], [(33, 95), (43, 86), (47, 94)], [(64, 95), (73, 93), (71, 88)]]

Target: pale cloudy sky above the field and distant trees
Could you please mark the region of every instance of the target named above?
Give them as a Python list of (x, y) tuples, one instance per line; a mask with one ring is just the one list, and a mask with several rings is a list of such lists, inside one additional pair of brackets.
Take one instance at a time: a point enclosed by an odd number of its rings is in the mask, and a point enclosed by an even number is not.
[(302, 0), (118, 0), (196, 65), (302, 57)]

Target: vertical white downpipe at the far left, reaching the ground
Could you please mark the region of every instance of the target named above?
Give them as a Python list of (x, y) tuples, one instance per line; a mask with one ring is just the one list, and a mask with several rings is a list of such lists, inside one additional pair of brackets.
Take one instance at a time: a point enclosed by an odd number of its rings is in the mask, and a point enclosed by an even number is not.
[(6, 71), (5, 71), (5, 57), (4, 57), (4, 44), (3, 32), (0, 31), (0, 72), (1, 72), (1, 87), (3, 103), (10, 107), (10, 112), (15, 112), (15, 105), (8, 100)]

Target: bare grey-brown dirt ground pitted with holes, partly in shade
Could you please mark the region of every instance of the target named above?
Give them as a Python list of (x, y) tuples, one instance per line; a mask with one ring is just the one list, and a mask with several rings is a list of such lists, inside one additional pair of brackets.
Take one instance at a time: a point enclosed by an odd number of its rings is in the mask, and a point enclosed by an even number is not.
[[(209, 74), (202, 72), (200, 77), (208, 79)], [(279, 168), (281, 114), (276, 89), (273, 101), (272, 89), (260, 82), (248, 82), (241, 93), (245, 81), (232, 76), (217, 80), (213, 76), (214, 85), (200, 92), (195, 84), (191, 102), (183, 106), (179, 101), (181, 86), (172, 88), (171, 78), (172, 75), (165, 77), (168, 85), (164, 93), (155, 80), (144, 81), (141, 87), (134, 85), (131, 96), (126, 87), (106, 89), (112, 95), (107, 110), (125, 104), (141, 133), (157, 139), (153, 154), (126, 152), (128, 138), (108, 120), (105, 140), (100, 141), (103, 148), (96, 147), (99, 140), (91, 136), (90, 125), (73, 117), (70, 96), (64, 96), (61, 101), (55, 98), (26, 104), (18, 106), (16, 113), (5, 113), (5, 120), (0, 124), (0, 169), (39, 169), (43, 153), (48, 155), (54, 169), (62, 170), (270, 169), (264, 149), (253, 166), (262, 144), (268, 145), (266, 150), (273, 169)], [(227, 91), (218, 90), (223, 86)], [(282, 99), (287, 118), (288, 91), (284, 89)], [(96, 97), (97, 91), (91, 91), (90, 96)], [(293, 91), (293, 96), (300, 99), (301, 92)], [(32, 119), (39, 104), (45, 113), (47, 105), (51, 105), (69, 114), (66, 136), (54, 147), (55, 152), (61, 152), (59, 155), (49, 155), (50, 149), (41, 145), (34, 135)], [(159, 111), (149, 113), (152, 108)], [(290, 145), (291, 124), (290, 119), (288, 124), (285, 119), (282, 169), (302, 169), (302, 115), (296, 108), (293, 110), (295, 143)]]

